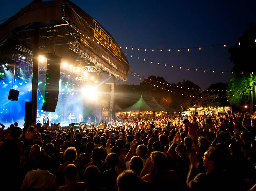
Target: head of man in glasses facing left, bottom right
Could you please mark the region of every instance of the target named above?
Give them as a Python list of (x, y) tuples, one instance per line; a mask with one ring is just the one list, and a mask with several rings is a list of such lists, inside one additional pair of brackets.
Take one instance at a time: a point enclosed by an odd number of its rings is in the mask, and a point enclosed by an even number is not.
[(209, 147), (203, 156), (203, 166), (207, 171), (222, 170), (225, 163), (225, 155), (217, 147)]

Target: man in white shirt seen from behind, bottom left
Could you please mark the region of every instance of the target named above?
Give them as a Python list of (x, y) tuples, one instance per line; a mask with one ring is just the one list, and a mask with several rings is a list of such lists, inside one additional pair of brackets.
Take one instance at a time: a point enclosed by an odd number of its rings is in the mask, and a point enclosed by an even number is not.
[(51, 158), (49, 157), (49, 155), (43, 155), (40, 158), (39, 168), (37, 170), (29, 171), (26, 174), (20, 189), (39, 189), (42, 191), (57, 191), (58, 185), (56, 176), (47, 170), (50, 160)]

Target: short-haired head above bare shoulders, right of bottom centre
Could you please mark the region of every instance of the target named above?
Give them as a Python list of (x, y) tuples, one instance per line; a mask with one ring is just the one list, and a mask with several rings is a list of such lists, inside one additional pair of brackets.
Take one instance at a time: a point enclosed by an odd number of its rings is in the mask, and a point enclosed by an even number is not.
[(164, 169), (166, 167), (167, 156), (165, 153), (159, 152), (159, 151), (153, 151), (150, 154), (150, 159), (154, 167), (156, 168), (156, 171)]

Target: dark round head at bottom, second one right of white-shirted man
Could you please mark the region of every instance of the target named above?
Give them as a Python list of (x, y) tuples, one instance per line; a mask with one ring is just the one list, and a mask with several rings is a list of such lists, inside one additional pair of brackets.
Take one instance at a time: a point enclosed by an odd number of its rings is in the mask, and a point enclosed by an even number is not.
[(95, 165), (89, 165), (84, 170), (84, 183), (87, 188), (93, 189), (98, 187), (98, 178), (100, 177), (100, 170)]

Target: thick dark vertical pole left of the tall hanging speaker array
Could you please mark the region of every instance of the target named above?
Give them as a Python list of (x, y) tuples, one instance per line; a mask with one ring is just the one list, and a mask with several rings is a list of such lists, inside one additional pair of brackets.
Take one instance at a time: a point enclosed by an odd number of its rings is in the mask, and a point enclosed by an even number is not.
[(33, 77), (32, 77), (32, 119), (35, 123), (37, 120), (37, 91), (38, 91), (38, 68), (39, 68), (39, 22), (35, 22), (34, 31), (34, 55), (33, 55)]

